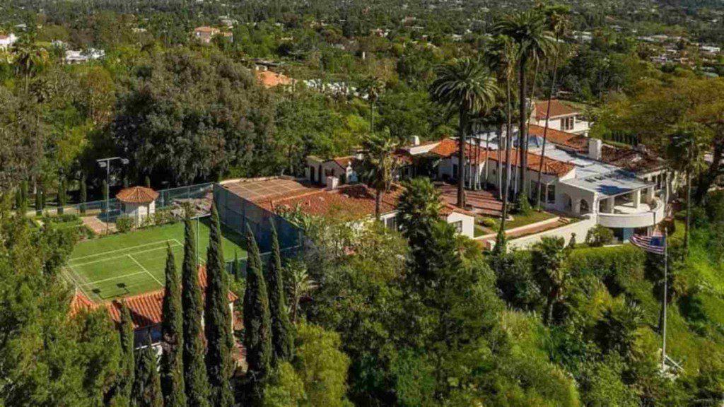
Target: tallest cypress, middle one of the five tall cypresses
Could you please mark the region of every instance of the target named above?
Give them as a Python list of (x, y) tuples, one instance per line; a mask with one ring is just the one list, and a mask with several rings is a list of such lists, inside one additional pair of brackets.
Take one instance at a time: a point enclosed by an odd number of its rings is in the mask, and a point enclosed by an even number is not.
[(216, 205), (212, 204), (209, 249), (206, 251), (206, 308), (203, 314), (207, 347), (206, 374), (211, 387), (211, 406), (231, 407), (234, 405), (231, 387), (234, 337), (229, 309), (229, 278), (224, 269), (222, 243), (219, 212), (216, 211)]

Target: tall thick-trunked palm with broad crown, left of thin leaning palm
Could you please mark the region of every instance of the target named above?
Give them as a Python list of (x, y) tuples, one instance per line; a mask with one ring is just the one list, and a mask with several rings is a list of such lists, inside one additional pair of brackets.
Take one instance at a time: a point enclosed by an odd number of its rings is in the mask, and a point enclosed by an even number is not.
[(546, 20), (539, 12), (527, 10), (503, 18), (494, 26), (494, 33), (506, 35), (518, 46), (518, 151), (520, 153), (521, 202), (528, 196), (526, 168), (528, 168), (528, 88), (526, 69), (528, 63), (549, 54), (552, 46), (546, 32)]

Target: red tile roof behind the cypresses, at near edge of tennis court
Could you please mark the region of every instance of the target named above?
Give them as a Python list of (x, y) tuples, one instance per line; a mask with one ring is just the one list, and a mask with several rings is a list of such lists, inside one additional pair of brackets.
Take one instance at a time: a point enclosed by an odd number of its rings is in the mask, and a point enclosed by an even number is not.
[[(198, 268), (198, 285), (203, 290), (206, 290), (206, 267), (200, 266)], [(160, 324), (163, 318), (163, 303), (164, 303), (164, 289), (151, 291), (149, 293), (143, 293), (138, 295), (132, 295), (130, 297), (120, 298), (114, 301), (105, 303), (93, 303), (88, 297), (86, 297), (80, 291), (77, 291), (70, 303), (70, 315), (74, 316), (81, 310), (90, 311), (98, 309), (98, 307), (104, 306), (108, 311), (111, 319), (119, 323), (121, 322), (121, 308), (122, 303), (126, 303), (131, 314), (133, 326), (135, 329), (148, 327), (155, 324)], [(229, 292), (229, 302), (236, 301), (238, 299), (235, 293)]]

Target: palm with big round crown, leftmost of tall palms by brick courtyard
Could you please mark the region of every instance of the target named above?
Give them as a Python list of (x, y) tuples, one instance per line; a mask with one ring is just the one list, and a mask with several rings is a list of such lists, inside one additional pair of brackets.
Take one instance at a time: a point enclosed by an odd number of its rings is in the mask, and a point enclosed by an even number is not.
[(458, 206), (464, 208), (468, 119), (494, 105), (498, 87), (480, 59), (462, 58), (437, 67), (437, 79), (430, 86), (430, 93), (438, 104), (458, 112)]

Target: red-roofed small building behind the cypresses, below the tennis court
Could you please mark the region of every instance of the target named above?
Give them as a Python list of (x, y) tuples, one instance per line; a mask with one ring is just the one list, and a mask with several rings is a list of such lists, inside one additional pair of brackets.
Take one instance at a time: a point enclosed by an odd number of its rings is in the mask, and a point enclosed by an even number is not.
[[(206, 266), (198, 268), (198, 285), (202, 295), (206, 290)], [(151, 345), (161, 353), (161, 322), (163, 320), (163, 302), (165, 289), (155, 290), (148, 293), (132, 295), (130, 297), (118, 298), (112, 301), (96, 303), (90, 300), (82, 291), (76, 290), (70, 300), (70, 315), (74, 316), (82, 311), (106, 309), (108, 315), (115, 324), (121, 322), (121, 307), (125, 303), (128, 307), (133, 322), (135, 333), (135, 345), (141, 347), (146, 345), (148, 338), (151, 338)], [(234, 315), (234, 301), (237, 295), (229, 292), (229, 308)], [(235, 321), (232, 321), (232, 328)], [(237, 322), (239, 325), (240, 322)]]

